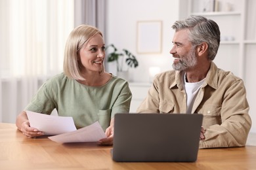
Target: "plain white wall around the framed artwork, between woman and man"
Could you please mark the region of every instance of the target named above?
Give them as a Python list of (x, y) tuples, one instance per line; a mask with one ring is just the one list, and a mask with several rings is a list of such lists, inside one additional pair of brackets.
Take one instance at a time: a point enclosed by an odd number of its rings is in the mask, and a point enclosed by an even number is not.
[[(139, 67), (129, 69), (132, 82), (149, 82), (148, 69), (152, 66), (161, 71), (172, 69), (173, 59), (169, 50), (172, 46), (171, 25), (179, 20), (179, 1), (170, 0), (108, 0), (106, 45), (114, 43), (117, 48), (127, 48), (139, 61)], [(146, 20), (162, 21), (161, 54), (137, 54), (137, 22)], [(114, 63), (108, 63), (107, 70), (116, 74)]]

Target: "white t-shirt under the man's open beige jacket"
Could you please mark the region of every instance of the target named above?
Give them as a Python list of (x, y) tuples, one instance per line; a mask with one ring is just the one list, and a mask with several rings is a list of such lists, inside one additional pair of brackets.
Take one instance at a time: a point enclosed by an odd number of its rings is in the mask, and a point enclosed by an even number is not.
[(198, 92), (200, 88), (203, 85), (205, 78), (201, 80), (200, 82), (186, 82), (186, 73), (184, 74), (184, 88), (186, 91), (186, 113), (192, 113), (192, 107), (194, 105), (194, 101), (196, 99), (196, 95), (198, 95)]

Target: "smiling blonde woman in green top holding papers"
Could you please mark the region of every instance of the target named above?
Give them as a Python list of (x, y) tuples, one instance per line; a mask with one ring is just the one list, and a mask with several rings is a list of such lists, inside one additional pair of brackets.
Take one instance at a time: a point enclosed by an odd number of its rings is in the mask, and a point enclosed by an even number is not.
[(16, 118), (16, 126), (27, 137), (44, 135), (30, 127), (26, 110), (72, 116), (77, 129), (98, 121), (106, 130), (99, 144), (112, 144), (114, 114), (129, 112), (131, 91), (128, 82), (105, 72), (105, 44), (102, 33), (79, 25), (68, 37), (64, 52), (64, 73), (47, 80), (30, 104)]

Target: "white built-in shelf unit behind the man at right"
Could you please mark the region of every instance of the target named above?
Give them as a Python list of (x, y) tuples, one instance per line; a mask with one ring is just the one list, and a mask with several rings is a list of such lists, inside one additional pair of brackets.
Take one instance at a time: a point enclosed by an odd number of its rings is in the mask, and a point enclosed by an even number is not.
[[(205, 2), (218, 1), (219, 11), (203, 12)], [(225, 8), (224, 5), (230, 5)], [(179, 19), (205, 16), (217, 22), (221, 30), (221, 44), (214, 62), (226, 71), (244, 80), (250, 113), (256, 112), (256, 1), (255, 0), (180, 0)], [(216, 8), (215, 8), (216, 9)], [(228, 11), (223, 11), (228, 9)], [(229, 41), (225, 41), (229, 40)], [(256, 121), (256, 115), (251, 114)], [(256, 125), (251, 131), (256, 132)]]

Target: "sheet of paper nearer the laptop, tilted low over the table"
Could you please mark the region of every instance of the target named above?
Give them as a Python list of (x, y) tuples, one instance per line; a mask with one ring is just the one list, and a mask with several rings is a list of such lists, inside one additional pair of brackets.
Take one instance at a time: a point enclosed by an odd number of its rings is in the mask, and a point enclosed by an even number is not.
[(106, 134), (98, 122), (95, 122), (90, 126), (83, 127), (76, 131), (49, 137), (49, 139), (55, 141), (56, 143), (97, 142), (102, 138), (106, 138)]

